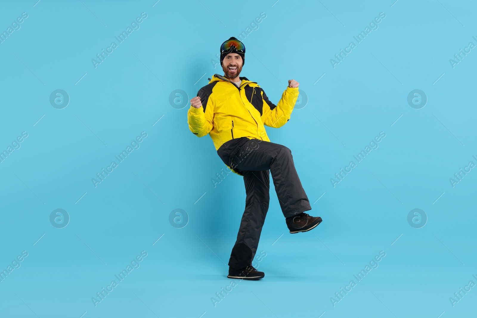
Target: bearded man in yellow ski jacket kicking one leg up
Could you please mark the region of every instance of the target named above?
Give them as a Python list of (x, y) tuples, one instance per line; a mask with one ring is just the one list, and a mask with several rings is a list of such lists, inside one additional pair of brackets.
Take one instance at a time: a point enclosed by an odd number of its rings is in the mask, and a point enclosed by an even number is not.
[(298, 85), (288, 81), (277, 105), (270, 102), (257, 82), (239, 77), (245, 46), (231, 37), (220, 46), (224, 76), (214, 74), (190, 100), (187, 123), (197, 137), (210, 135), (220, 159), (243, 176), (245, 211), (237, 241), (228, 261), (229, 278), (257, 280), (265, 274), (252, 266), (269, 208), (270, 171), (290, 233), (306, 232), (321, 223), (311, 210), (295, 170), (289, 148), (270, 142), (264, 126), (279, 128), (290, 120), (298, 98)]

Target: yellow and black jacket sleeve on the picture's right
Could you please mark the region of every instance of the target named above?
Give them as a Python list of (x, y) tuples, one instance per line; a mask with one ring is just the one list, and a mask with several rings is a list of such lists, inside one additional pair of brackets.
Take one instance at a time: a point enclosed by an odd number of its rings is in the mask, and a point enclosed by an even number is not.
[(298, 87), (288, 87), (281, 95), (277, 105), (270, 102), (262, 90), (263, 108), (262, 121), (265, 126), (280, 128), (290, 120), (291, 112), (298, 99)]

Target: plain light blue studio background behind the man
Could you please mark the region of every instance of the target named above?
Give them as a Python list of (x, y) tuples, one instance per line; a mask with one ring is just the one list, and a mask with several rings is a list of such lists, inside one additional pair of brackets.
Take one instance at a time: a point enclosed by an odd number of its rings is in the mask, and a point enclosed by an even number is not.
[[(28, 18), (0, 44), (0, 150), (28, 137), (0, 164), (0, 269), (21, 251), (28, 256), (0, 282), (0, 316), (475, 313), (476, 287), (454, 307), (449, 297), (477, 283), (477, 171), (455, 187), (449, 178), (477, 164), (477, 52), (454, 68), (449, 59), (477, 44), (476, 9), (450, 0), (2, 3), (1, 31), (22, 12)], [(140, 29), (94, 68), (96, 54), (141, 12)], [(220, 44), (261, 12), (266, 18), (243, 40), (240, 75), (273, 103), (290, 79), (306, 92), (306, 106), (267, 133), (291, 149), (310, 214), (323, 223), (290, 235), (272, 186), (259, 245), (265, 277), (235, 280), (214, 307), (211, 297), (231, 282), (245, 190), (237, 174), (214, 187), (225, 165), (209, 136), (188, 130), (188, 100), (223, 74), (213, 62)], [(380, 12), (379, 28), (333, 68), (330, 59)], [(49, 102), (57, 89), (69, 94), (66, 108)], [(169, 103), (177, 89), (188, 95), (182, 109)], [(424, 108), (407, 103), (415, 89), (427, 95)], [(330, 178), (382, 131), (379, 148), (333, 187)], [(91, 179), (141, 132), (140, 148), (94, 187)], [(49, 221), (57, 208), (70, 215), (64, 228)], [(189, 217), (183, 228), (169, 223), (177, 208)], [(407, 222), (415, 208), (427, 215), (424, 227)], [(91, 298), (141, 251), (140, 267), (95, 307)], [(380, 251), (379, 267), (333, 307), (330, 297)]]

